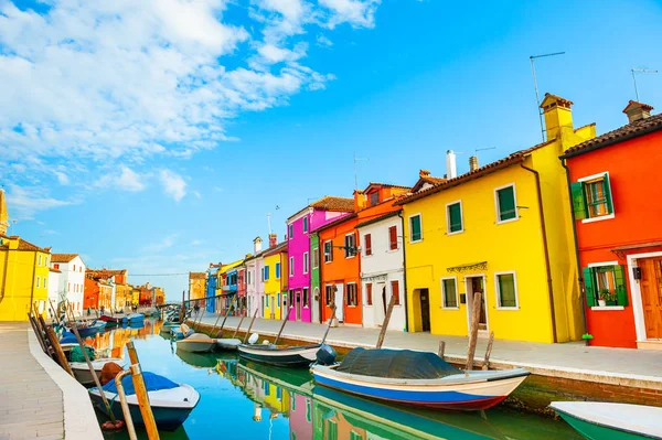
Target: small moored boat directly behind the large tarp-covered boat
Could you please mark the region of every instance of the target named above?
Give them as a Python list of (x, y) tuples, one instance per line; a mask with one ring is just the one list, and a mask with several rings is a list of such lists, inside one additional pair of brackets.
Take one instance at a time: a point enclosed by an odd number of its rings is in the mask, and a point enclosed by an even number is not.
[(241, 344), (237, 350), (239, 356), (254, 362), (274, 366), (306, 368), (314, 362), (317, 352), (321, 346), (322, 344), (301, 346)]

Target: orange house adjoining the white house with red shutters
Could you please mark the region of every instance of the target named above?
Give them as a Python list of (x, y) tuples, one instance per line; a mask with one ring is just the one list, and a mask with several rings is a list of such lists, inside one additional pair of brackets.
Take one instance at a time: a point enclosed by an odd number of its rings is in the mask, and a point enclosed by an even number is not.
[(322, 321), (335, 318), (345, 324), (363, 324), (361, 298), (361, 244), (356, 225), (386, 213), (398, 211), (393, 202), (408, 186), (371, 183), (364, 191), (354, 191), (354, 214), (319, 227), (320, 285), (322, 286)]

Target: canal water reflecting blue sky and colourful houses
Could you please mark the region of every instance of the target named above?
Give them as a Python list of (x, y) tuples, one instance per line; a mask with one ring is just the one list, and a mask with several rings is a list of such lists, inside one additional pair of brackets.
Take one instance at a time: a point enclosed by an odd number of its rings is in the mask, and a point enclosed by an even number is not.
[[(134, 340), (142, 369), (193, 386), (200, 403), (182, 427), (161, 439), (579, 440), (565, 422), (498, 406), (483, 414), (418, 410), (382, 405), (316, 387), (306, 369), (274, 368), (236, 354), (177, 350), (159, 321), (109, 330), (88, 339), (104, 357), (128, 359)], [(116, 403), (115, 405), (119, 405)], [(99, 421), (106, 418), (98, 414)], [(138, 436), (147, 439), (145, 430)], [(106, 439), (128, 439), (125, 432)]]

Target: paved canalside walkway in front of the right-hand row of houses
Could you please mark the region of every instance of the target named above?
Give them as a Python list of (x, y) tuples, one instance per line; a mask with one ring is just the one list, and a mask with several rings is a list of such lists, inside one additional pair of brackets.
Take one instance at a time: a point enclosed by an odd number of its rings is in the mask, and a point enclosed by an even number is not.
[[(216, 315), (203, 318), (203, 322), (213, 325)], [(223, 318), (221, 318), (221, 321)], [(225, 330), (234, 330), (238, 318), (228, 318)], [(255, 320), (253, 332), (260, 335), (276, 335), (282, 321)], [(244, 319), (242, 330), (249, 324)], [(220, 325), (220, 324), (218, 324)], [(303, 322), (288, 322), (282, 337), (299, 341), (319, 342), (325, 325)], [(331, 329), (327, 342), (335, 346), (355, 347), (374, 346), (377, 342), (377, 329), (356, 326), (338, 326)], [(429, 333), (405, 333), (388, 331), (384, 340), (384, 348), (410, 348), (437, 353), (439, 341), (446, 342), (446, 358), (461, 362), (467, 358), (468, 339)], [(477, 348), (477, 361), (483, 359), (487, 340), (480, 339)], [(565, 344), (540, 344), (532, 342), (494, 341), (491, 364), (512, 367), (524, 366), (536, 374), (580, 378), (591, 382), (609, 382), (618, 385), (639, 386), (637, 382), (652, 382), (652, 387), (662, 389), (662, 351), (643, 351), (629, 348), (589, 347), (583, 342)], [(651, 386), (651, 384), (648, 384)]]

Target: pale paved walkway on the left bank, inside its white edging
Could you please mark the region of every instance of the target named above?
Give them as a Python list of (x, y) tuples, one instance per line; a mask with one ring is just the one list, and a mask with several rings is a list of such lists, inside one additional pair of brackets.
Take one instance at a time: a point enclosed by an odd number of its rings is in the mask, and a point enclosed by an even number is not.
[(30, 354), (26, 322), (0, 322), (0, 440), (63, 439), (62, 391)]

